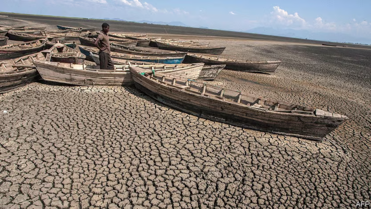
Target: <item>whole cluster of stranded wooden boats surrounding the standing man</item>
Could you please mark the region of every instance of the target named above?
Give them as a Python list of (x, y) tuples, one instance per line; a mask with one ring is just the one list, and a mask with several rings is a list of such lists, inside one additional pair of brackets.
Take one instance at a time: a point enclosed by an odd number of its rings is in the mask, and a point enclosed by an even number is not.
[[(99, 69), (98, 49), (93, 45), (98, 34), (90, 32), (92, 28), (57, 27), (59, 30), (43, 31), (47, 35), (42, 38), (27, 33), (41, 28), (24, 28), (26, 33), (22, 36), (37, 38), (0, 46), (0, 93), (39, 79), (82, 86), (134, 84), (154, 99), (193, 115), (314, 140), (322, 139), (347, 119), (344, 115), (264, 99), (202, 81), (214, 80), (224, 68), (274, 72), (280, 61), (218, 58), (210, 54), (221, 54), (225, 47), (210, 47), (191, 40), (147, 38), (145, 34), (109, 33), (114, 70), (105, 70)], [(13, 32), (14, 29), (7, 30), (6, 37), (19, 41), (14, 34), (22, 32)], [(71, 42), (72, 39), (80, 44)], [(167, 51), (142, 50), (136, 46)], [(86, 65), (84, 60), (96, 65)]]

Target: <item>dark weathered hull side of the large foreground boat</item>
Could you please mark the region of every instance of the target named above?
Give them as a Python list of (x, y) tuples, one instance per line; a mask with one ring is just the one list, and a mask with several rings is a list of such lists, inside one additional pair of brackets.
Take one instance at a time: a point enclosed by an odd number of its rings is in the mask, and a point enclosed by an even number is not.
[[(258, 131), (321, 140), (344, 121), (338, 122), (339, 118), (331, 117), (272, 113), (272, 111), (241, 107), (238, 104), (224, 103), (207, 97), (200, 99), (201, 96), (147, 81), (147, 78), (138, 73), (132, 73), (132, 76), (139, 90), (165, 105), (202, 118)], [(328, 122), (323, 123), (323, 120)]]

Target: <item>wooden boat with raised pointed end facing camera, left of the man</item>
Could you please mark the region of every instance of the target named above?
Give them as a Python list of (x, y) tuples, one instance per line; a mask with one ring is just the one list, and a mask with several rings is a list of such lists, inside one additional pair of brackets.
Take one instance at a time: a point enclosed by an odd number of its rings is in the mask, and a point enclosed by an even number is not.
[(81, 52), (60, 43), (55, 44), (52, 48), (43, 52), (50, 53), (50, 61), (52, 62), (83, 64), (86, 58)]

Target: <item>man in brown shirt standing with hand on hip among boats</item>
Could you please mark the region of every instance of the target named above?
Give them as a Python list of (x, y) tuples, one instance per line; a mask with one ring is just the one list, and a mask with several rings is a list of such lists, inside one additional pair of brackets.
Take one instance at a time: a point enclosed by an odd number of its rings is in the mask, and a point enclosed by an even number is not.
[(101, 69), (114, 70), (114, 64), (111, 60), (111, 49), (109, 48), (108, 32), (109, 25), (103, 23), (101, 33), (99, 33), (94, 45), (99, 49), (99, 62), (101, 62)]

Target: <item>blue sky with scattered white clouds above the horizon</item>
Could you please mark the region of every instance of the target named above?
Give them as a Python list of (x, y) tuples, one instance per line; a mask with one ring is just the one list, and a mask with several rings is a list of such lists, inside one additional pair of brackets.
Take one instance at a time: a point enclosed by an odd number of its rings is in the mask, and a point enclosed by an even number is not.
[(370, 0), (5, 0), (0, 10), (128, 21), (180, 21), (211, 29), (270, 27), (371, 37), (370, 8)]

